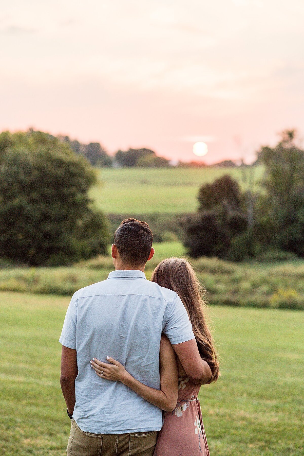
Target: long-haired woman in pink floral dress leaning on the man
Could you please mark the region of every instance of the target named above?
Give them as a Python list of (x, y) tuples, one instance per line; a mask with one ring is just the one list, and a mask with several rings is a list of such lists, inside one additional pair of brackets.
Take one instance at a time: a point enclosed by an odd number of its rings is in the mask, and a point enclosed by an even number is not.
[[(211, 332), (204, 315), (203, 288), (191, 264), (182, 258), (165, 259), (155, 268), (151, 280), (176, 291), (192, 323), (197, 346), (211, 368), (209, 383), (219, 376), (219, 363)], [(200, 385), (192, 383), (176, 359), (175, 352), (165, 337), (160, 341), (160, 390), (150, 388), (132, 377), (122, 364), (113, 358), (108, 363), (91, 361), (99, 377), (120, 381), (151, 404), (163, 409), (164, 422), (158, 435), (155, 456), (209, 456), (206, 434), (197, 395)]]

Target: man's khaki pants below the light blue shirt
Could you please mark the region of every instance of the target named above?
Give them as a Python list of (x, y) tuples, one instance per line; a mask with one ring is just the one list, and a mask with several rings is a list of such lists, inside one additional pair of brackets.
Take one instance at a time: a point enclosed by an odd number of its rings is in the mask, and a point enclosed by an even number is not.
[(157, 432), (91, 434), (72, 420), (67, 456), (153, 456)]

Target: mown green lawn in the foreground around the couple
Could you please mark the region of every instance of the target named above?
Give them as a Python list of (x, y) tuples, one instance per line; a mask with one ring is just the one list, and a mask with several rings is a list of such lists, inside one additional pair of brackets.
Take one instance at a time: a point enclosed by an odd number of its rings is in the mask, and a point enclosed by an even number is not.
[[(0, 454), (62, 456), (68, 297), (0, 292)], [(212, 306), (222, 377), (201, 388), (211, 456), (304, 455), (304, 313)]]

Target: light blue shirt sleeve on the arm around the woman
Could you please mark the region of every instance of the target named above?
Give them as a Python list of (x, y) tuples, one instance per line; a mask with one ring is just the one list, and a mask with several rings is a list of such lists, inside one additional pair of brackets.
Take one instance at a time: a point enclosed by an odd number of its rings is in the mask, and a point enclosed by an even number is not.
[(171, 344), (187, 342), (195, 338), (189, 316), (178, 295), (169, 308), (163, 333)]

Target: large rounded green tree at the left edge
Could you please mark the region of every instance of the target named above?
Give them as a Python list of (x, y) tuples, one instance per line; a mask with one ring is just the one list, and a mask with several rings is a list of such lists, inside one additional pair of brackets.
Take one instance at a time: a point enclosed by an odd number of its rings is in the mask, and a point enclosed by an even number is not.
[(108, 227), (88, 197), (95, 174), (42, 132), (0, 135), (0, 256), (69, 264), (106, 252)]

